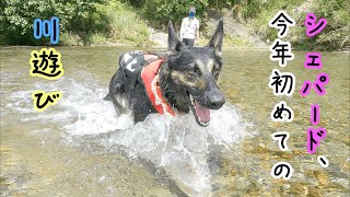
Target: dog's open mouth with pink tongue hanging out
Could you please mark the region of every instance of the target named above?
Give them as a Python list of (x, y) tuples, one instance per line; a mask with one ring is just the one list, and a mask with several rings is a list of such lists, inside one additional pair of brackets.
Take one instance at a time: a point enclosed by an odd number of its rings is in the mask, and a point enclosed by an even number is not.
[(196, 100), (195, 97), (189, 94), (189, 107), (192, 111), (196, 121), (198, 123), (198, 125), (202, 126), (202, 127), (207, 127), (209, 125), (210, 121), (210, 109), (201, 106)]

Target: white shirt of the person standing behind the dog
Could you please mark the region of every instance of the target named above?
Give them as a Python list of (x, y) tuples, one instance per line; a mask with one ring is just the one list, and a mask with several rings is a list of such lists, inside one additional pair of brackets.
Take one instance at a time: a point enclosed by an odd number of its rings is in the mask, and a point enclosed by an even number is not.
[(179, 31), (180, 38), (195, 39), (196, 31), (199, 30), (199, 21), (196, 18), (185, 18)]

